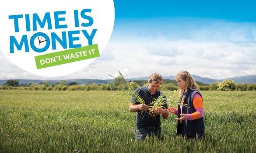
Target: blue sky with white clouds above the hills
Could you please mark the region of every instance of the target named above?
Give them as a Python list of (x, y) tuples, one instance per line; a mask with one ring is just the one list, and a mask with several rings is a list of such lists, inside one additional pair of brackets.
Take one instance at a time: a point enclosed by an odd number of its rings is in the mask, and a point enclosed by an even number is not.
[(181, 70), (211, 79), (256, 75), (255, 0), (114, 0), (115, 23), (100, 57), (66, 76), (38, 76), (0, 52), (0, 80), (112, 79)]

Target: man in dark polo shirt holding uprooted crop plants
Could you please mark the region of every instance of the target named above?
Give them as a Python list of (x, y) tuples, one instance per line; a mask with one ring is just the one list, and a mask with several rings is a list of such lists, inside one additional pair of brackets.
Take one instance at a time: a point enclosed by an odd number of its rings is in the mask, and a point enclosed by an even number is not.
[(158, 136), (161, 137), (161, 115), (163, 118), (168, 118), (169, 112), (167, 110), (167, 104), (164, 104), (164, 108), (158, 108), (154, 111), (157, 115), (152, 117), (149, 114), (148, 105), (151, 104), (155, 99), (157, 99), (162, 92), (158, 90), (161, 83), (163, 83), (163, 78), (158, 73), (152, 73), (148, 79), (148, 85), (145, 87), (138, 87), (134, 93), (139, 94), (139, 96), (144, 100), (145, 104), (140, 104), (132, 98), (131, 104), (129, 106), (130, 112), (137, 112), (136, 126), (137, 131), (135, 139), (145, 139), (146, 136)]

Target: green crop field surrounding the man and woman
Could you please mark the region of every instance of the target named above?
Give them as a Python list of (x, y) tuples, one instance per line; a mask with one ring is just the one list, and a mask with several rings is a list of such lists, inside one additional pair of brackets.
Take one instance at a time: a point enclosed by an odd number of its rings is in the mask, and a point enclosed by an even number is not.
[(256, 153), (256, 91), (202, 91), (206, 135), (190, 142), (173, 114), (163, 139), (134, 140), (136, 113), (117, 93), (0, 90), (0, 153)]

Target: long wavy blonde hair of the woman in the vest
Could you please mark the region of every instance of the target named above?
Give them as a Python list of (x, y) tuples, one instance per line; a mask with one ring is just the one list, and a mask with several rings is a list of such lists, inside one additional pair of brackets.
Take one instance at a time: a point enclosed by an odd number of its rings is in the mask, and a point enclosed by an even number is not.
[[(177, 78), (178, 76), (180, 76), (182, 80), (187, 82), (188, 88), (190, 90), (200, 90), (198, 85), (196, 84), (196, 81), (194, 81), (193, 77), (188, 71), (180, 71), (178, 74), (176, 74), (175, 78)], [(184, 91), (185, 89), (179, 90), (179, 96), (181, 96)]]

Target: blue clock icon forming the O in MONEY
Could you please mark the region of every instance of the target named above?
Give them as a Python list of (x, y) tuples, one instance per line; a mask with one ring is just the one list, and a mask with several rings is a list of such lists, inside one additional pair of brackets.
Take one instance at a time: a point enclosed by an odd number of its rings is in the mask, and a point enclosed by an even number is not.
[(37, 32), (30, 38), (30, 46), (35, 52), (45, 52), (50, 44), (48, 35), (43, 32)]

